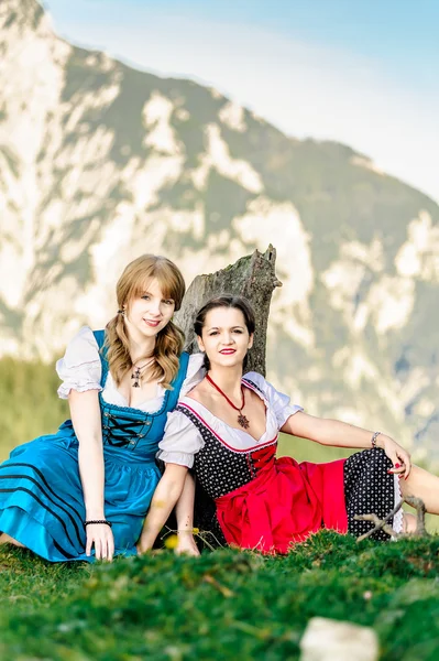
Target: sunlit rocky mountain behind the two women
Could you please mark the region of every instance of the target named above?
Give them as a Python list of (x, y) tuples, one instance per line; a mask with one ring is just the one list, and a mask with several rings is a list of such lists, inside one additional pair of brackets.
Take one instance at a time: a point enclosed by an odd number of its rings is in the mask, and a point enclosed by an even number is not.
[(48, 360), (102, 326), (141, 252), (189, 282), (272, 242), (268, 377), (439, 455), (437, 204), (348, 147), (66, 43), (35, 0), (0, 3), (0, 90), (3, 355)]

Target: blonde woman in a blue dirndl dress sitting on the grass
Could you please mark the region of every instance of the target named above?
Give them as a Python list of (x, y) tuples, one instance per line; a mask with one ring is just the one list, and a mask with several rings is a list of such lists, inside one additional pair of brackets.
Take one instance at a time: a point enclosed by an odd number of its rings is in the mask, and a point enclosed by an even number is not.
[[(155, 454), (168, 411), (204, 376), (182, 353), (172, 317), (185, 283), (164, 257), (144, 254), (117, 284), (106, 330), (83, 327), (56, 369), (70, 418), (17, 447), (0, 466), (0, 543), (52, 562), (136, 553), (161, 474)], [(193, 554), (193, 483), (176, 508), (178, 550)]]

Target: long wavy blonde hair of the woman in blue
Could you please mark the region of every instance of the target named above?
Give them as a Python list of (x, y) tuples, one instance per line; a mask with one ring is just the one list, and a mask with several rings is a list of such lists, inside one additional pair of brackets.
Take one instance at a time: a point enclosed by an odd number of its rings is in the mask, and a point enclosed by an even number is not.
[[(151, 280), (156, 279), (163, 295), (173, 299), (175, 310), (179, 310), (185, 295), (185, 281), (177, 267), (166, 257), (142, 254), (125, 267), (116, 285), (119, 311), (128, 306), (133, 299), (142, 296)], [(106, 348), (109, 370), (117, 386), (133, 366), (130, 343), (123, 314), (120, 312), (106, 326)], [(169, 321), (157, 334), (154, 347), (154, 361), (147, 370), (147, 378), (158, 380), (164, 388), (171, 389), (172, 380), (177, 376), (184, 345), (184, 334)]]

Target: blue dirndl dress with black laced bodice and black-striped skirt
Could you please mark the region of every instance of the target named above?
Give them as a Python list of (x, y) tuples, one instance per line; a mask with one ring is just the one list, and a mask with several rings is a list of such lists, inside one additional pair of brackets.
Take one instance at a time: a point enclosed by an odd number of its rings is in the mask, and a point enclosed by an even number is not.
[[(105, 332), (94, 335), (101, 348)], [(135, 555), (135, 542), (161, 478), (155, 463), (166, 416), (178, 400), (189, 356), (180, 357), (173, 390), (155, 413), (107, 403), (99, 392), (105, 459), (105, 514), (112, 523), (114, 554)], [(101, 387), (108, 362), (100, 353)], [(52, 562), (83, 560), (85, 505), (78, 465), (79, 443), (72, 421), (56, 434), (12, 451), (0, 466), (0, 531)]]

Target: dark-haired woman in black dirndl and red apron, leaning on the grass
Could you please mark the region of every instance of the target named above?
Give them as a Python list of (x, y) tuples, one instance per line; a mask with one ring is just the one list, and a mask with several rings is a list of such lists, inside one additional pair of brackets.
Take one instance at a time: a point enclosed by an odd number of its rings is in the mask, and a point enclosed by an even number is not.
[[(151, 549), (191, 467), (215, 500), (227, 542), (263, 552), (286, 553), (321, 528), (359, 535), (371, 524), (355, 521), (355, 514), (385, 517), (402, 494), (415, 494), (439, 513), (439, 478), (411, 466), (409, 454), (388, 435), (308, 415), (261, 375), (242, 376), (254, 326), (253, 311), (238, 296), (212, 299), (199, 311), (195, 330), (208, 371), (168, 415), (160, 443), (166, 470), (140, 551)], [(279, 431), (363, 452), (326, 464), (276, 459)], [(395, 531), (413, 527), (413, 514), (399, 510), (394, 519)]]

